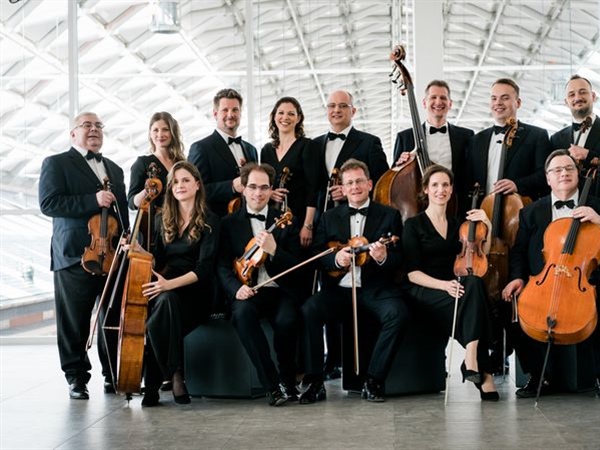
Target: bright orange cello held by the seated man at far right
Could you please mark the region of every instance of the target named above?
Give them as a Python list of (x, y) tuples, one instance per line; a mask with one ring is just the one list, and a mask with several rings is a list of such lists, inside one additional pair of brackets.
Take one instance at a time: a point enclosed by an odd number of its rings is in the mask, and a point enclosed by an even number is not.
[[(579, 196), (585, 205), (593, 177)], [(531, 338), (548, 344), (577, 344), (595, 330), (596, 289), (589, 283), (600, 260), (600, 226), (574, 218), (554, 220), (544, 232), (542, 271), (519, 296), (519, 321)]]

